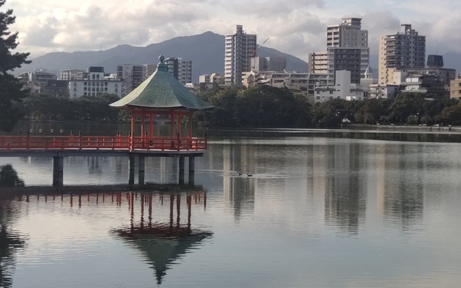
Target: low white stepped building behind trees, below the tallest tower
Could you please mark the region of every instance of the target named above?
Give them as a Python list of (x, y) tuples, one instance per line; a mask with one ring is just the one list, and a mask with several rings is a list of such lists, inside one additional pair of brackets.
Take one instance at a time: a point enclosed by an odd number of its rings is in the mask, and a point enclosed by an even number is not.
[(335, 86), (315, 87), (314, 102), (323, 103), (332, 99), (364, 100), (365, 92), (356, 84), (350, 83), (350, 71), (337, 71)]

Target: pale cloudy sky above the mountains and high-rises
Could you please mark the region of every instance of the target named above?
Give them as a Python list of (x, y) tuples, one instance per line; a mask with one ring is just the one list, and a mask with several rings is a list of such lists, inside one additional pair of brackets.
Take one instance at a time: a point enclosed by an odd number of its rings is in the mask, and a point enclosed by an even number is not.
[[(6, 0), (31, 59), (54, 51), (87, 51), (118, 44), (146, 46), (176, 36), (232, 33), (243, 25), (258, 42), (305, 61), (326, 47), (326, 27), (362, 18), (372, 55), (378, 38), (412, 24), (426, 36), (426, 54), (461, 53), (459, 0)], [(180, 55), (178, 55), (180, 57)]]

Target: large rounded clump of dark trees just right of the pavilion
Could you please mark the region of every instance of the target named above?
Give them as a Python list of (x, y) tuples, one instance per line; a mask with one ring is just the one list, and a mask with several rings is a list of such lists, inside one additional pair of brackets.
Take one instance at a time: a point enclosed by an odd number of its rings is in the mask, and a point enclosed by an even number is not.
[(205, 92), (200, 97), (216, 106), (198, 112), (199, 125), (215, 127), (309, 127), (311, 106), (288, 89), (261, 85), (237, 91)]

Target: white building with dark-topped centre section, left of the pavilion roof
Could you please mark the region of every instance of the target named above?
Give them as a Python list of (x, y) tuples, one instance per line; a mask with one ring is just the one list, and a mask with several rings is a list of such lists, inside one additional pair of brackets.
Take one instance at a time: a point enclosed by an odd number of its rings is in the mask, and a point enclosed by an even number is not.
[(104, 67), (89, 67), (87, 78), (69, 81), (70, 99), (105, 93), (122, 97), (123, 81), (115, 80), (114, 76), (106, 77), (104, 75)]

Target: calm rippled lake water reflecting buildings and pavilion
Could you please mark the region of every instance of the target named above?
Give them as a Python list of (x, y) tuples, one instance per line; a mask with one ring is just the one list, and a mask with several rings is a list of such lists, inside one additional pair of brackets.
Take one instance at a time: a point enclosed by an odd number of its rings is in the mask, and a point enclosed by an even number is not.
[[(179, 199), (3, 197), (0, 286), (460, 287), (460, 156), (460, 144), (220, 139)], [(146, 180), (176, 182), (173, 160), (148, 159)], [(6, 163), (26, 185), (51, 184), (51, 159)], [(66, 185), (128, 181), (125, 158), (64, 166)]]

